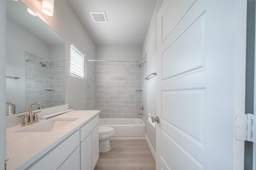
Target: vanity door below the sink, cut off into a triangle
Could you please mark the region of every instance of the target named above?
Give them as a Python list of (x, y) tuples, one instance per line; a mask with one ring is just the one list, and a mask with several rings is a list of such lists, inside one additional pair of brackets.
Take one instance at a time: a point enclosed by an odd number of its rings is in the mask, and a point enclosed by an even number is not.
[(80, 170), (80, 147), (77, 147), (57, 170)]

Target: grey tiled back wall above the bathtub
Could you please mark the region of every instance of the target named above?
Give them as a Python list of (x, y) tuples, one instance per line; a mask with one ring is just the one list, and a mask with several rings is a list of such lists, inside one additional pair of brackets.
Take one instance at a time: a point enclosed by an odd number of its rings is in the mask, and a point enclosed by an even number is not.
[(98, 61), (96, 108), (100, 118), (141, 117), (142, 68), (136, 62)]

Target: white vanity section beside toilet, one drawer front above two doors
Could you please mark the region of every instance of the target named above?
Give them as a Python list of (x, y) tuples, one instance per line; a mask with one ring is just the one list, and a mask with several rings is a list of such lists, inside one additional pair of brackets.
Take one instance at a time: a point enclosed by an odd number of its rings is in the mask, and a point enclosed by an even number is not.
[(99, 158), (98, 115), (80, 128), (80, 141), (81, 170), (93, 170)]

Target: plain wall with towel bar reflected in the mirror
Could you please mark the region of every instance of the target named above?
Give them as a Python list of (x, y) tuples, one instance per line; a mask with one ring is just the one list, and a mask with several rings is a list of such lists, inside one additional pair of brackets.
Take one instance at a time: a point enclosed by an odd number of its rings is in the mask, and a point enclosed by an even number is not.
[(49, 45), (6, 20), (6, 76), (20, 77), (6, 79), (6, 102), (15, 104), (16, 113), (25, 111), (25, 51), (49, 59)]

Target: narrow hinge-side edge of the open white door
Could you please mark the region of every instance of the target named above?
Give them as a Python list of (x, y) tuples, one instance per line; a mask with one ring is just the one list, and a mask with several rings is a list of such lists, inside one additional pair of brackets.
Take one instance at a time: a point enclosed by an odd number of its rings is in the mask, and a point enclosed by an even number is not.
[[(236, 133), (236, 116), (239, 114), (244, 114), (245, 110), (247, 23), (244, 18), (247, 18), (247, 1), (236, 0), (236, 9), (236, 42), (239, 43), (236, 43), (234, 133)], [(243, 104), (243, 106), (241, 106), (241, 104)], [(234, 140), (234, 170), (244, 169), (244, 143), (244, 141), (238, 141), (236, 139)]]

